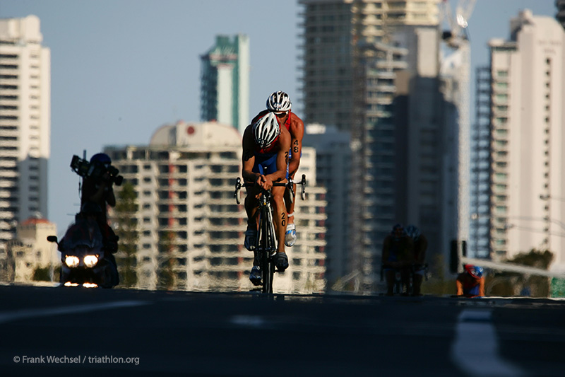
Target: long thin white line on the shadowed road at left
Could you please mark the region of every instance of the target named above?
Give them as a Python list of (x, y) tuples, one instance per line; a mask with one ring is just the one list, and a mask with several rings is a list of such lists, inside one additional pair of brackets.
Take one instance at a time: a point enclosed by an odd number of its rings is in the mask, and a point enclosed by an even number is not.
[(112, 301), (108, 303), (86, 303), (84, 305), (57, 306), (55, 308), (24, 309), (20, 311), (0, 312), (0, 324), (13, 320), (48, 317), (49, 315), (64, 315), (86, 313), (90, 311), (105, 311), (114, 308), (148, 305), (149, 301)]

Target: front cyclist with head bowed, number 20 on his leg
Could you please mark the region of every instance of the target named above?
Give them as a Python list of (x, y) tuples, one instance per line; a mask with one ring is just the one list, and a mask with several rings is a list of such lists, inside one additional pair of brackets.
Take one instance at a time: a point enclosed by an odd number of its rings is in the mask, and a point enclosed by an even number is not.
[[(275, 212), (273, 221), (277, 234), (277, 253), (274, 258), (275, 266), (280, 271), (288, 267), (288, 257), (285, 253), (287, 211), (283, 199), (285, 187), (273, 186), (273, 182), (286, 182), (289, 149), (290, 133), (285, 127), (280, 127), (280, 122), (273, 112), (268, 112), (247, 126), (244, 131), (242, 175), (244, 181), (256, 184), (254, 187), (247, 187), (245, 198), (247, 230), (244, 245), (247, 250), (255, 249), (258, 231), (257, 199), (261, 195), (258, 187), (271, 190)], [(258, 266), (258, 257), (256, 253), (254, 254), (254, 267), (251, 269), (249, 279), (258, 285), (261, 284), (261, 269)]]

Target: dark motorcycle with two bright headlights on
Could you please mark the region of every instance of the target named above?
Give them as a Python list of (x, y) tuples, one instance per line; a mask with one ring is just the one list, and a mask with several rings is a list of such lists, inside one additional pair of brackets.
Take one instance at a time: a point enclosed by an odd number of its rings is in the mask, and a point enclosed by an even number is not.
[[(117, 250), (117, 237), (113, 238), (110, 241), (115, 241)], [(79, 214), (60, 241), (57, 236), (48, 236), (47, 240), (57, 243), (61, 252), (60, 282), (64, 286), (112, 288), (119, 283), (118, 269), (110, 251), (112, 248), (103, 242), (95, 219)]]

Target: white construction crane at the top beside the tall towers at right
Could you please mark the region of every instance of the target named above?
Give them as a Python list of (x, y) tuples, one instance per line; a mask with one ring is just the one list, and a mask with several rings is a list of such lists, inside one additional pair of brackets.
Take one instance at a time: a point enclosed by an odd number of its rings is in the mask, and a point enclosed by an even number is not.
[(459, 0), (455, 17), (451, 13), (449, 1), (442, 0), (442, 16), (444, 21), (447, 22), (449, 30), (444, 30), (441, 37), (449, 47), (458, 49), (463, 41), (469, 40), (468, 19), (471, 17), (476, 0)]

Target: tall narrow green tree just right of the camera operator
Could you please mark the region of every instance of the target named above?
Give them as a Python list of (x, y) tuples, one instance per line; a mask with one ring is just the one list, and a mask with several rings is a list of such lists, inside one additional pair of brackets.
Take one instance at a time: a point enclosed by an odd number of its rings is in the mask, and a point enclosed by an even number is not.
[(137, 283), (137, 242), (139, 233), (137, 229), (136, 214), (138, 204), (136, 190), (131, 182), (124, 181), (117, 192), (116, 207), (114, 207), (113, 223), (116, 226), (116, 235), (119, 237), (116, 262), (120, 276), (120, 285), (131, 288)]

